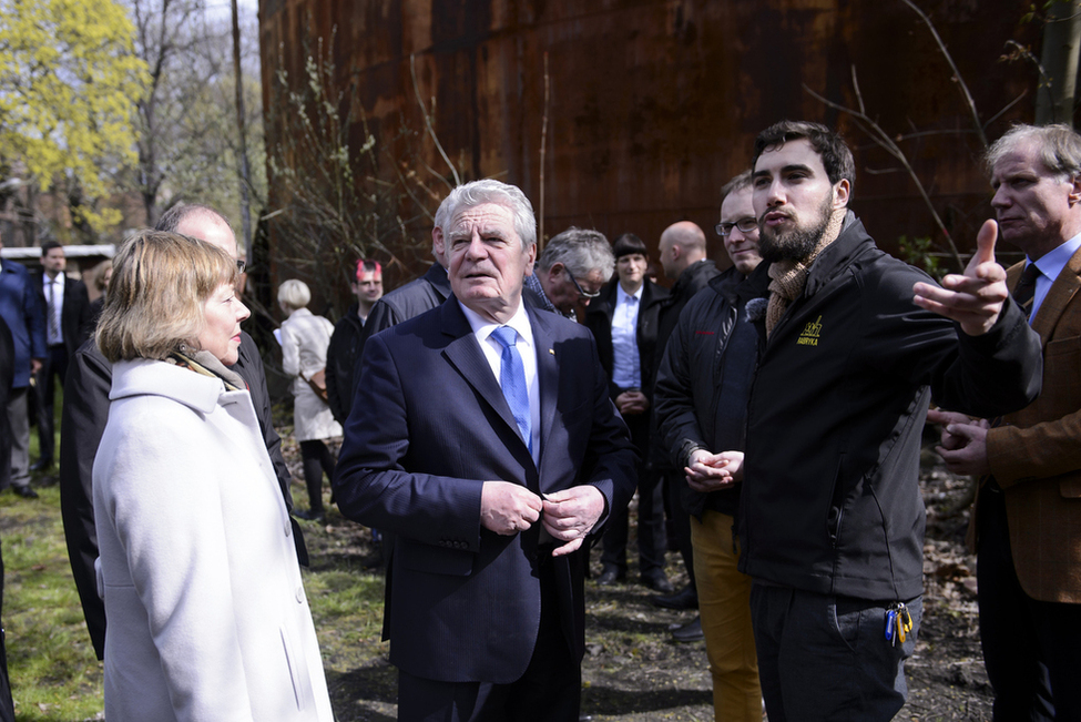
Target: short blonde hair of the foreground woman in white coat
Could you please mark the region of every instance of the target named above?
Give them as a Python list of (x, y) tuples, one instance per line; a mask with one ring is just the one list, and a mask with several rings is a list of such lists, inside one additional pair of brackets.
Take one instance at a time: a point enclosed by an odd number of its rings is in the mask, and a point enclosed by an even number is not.
[(233, 258), (205, 241), (141, 231), (113, 258), (113, 277), (94, 338), (110, 362), (166, 358), (194, 345), (204, 304), (236, 282)]

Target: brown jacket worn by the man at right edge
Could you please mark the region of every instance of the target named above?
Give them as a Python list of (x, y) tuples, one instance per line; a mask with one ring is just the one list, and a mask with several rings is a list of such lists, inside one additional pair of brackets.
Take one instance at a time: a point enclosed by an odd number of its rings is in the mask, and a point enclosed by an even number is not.
[[(1009, 270), (1011, 289), (1023, 265)], [(1055, 278), (1032, 319), (1043, 342), (1043, 391), (987, 434), (991, 474), (1006, 494), (1021, 588), (1033, 599), (1073, 604), (1081, 603), (1079, 289), (1081, 251)]]

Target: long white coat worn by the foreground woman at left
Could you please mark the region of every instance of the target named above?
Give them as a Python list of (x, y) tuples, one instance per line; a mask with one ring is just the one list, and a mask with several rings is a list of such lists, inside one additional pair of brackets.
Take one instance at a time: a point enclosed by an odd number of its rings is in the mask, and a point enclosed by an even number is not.
[(113, 366), (94, 460), (105, 719), (330, 722), (288, 512), (251, 396)]

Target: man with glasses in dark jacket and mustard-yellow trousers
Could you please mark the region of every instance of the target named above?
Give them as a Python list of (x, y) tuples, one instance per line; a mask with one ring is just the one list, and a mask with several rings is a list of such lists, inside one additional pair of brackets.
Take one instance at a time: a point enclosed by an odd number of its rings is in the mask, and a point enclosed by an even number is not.
[[(713, 674), (717, 722), (762, 720), (751, 626), (751, 578), (736, 568), (735, 516), (742, 484), (726, 474), (744, 447), (751, 380), (758, 360), (755, 305), (764, 308), (768, 264), (758, 255), (751, 172), (721, 190), (717, 234), (733, 267), (710, 282), (680, 314), (654, 389), (664, 447), (683, 468), (691, 515), (701, 629)], [(757, 301), (755, 301), (757, 299)]]

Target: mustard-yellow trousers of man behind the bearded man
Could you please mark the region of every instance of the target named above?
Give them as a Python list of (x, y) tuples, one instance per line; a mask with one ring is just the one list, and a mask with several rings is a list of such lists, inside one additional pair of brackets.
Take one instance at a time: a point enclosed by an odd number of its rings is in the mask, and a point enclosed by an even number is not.
[(706, 510), (691, 517), (694, 576), (716, 722), (762, 722), (758, 660), (751, 627), (751, 578), (740, 573), (732, 517)]

